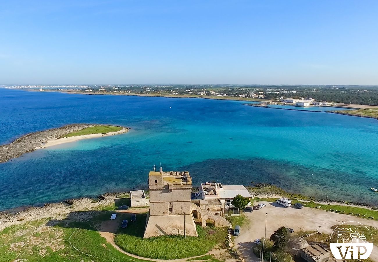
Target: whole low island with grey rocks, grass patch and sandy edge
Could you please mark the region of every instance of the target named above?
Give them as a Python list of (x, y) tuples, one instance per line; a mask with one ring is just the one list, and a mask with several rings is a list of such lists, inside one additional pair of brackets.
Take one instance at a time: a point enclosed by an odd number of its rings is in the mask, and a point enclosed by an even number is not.
[(123, 126), (98, 124), (72, 124), (59, 128), (26, 134), (13, 142), (0, 146), (0, 163), (40, 148), (100, 136), (122, 134), (129, 131)]

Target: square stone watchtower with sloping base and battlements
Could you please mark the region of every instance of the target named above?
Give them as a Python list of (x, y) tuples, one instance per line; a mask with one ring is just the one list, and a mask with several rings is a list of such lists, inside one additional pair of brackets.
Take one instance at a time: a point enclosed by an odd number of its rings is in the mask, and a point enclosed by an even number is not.
[(150, 211), (144, 237), (198, 236), (191, 213), (192, 178), (189, 172), (151, 171), (148, 176)]

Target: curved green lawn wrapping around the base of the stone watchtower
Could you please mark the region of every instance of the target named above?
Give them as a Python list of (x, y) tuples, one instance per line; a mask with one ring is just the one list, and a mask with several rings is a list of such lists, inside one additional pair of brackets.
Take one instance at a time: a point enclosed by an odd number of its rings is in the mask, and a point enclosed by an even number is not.
[(226, 229), (197, 226), (198, 237), (164, 235), (143, 238), (147, 214), (137, 214), (136, 221), (116, 234), (115, 243), (126, 252), (153, 259), (180, 259), (206, 254), (225, 240)]

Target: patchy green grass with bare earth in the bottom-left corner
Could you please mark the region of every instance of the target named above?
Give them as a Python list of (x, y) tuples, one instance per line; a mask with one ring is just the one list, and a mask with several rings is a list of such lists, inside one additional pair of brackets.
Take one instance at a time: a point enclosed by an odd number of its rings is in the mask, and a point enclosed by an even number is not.
[(0, 261), (146, 262), (116, 250), (88, 223), (71, 223), (67, 228), (47, 224), (43, 219), (0, 231)]

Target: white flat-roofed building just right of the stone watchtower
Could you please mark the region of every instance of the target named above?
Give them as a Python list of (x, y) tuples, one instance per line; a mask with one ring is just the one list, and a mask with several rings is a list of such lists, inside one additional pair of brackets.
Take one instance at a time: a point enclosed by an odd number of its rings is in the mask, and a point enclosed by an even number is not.
[(234, 196), (242, 195), (251, 198), (251, 194), (241, 185), (223, 186), (221, 183), (203, 183), (200, 185), (200, 195), (204, 200), (219, 199), (222, 205), (230, 206)]

